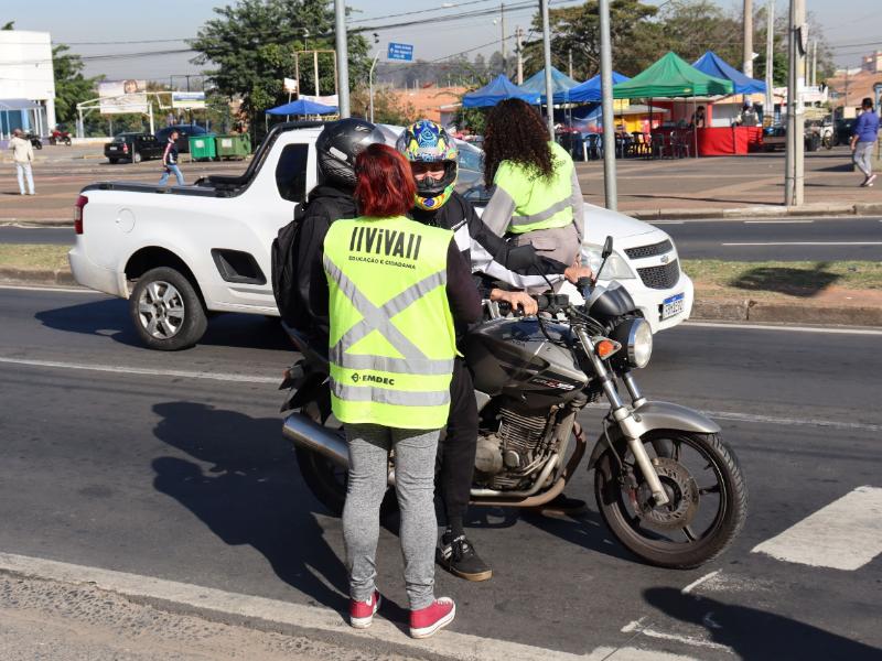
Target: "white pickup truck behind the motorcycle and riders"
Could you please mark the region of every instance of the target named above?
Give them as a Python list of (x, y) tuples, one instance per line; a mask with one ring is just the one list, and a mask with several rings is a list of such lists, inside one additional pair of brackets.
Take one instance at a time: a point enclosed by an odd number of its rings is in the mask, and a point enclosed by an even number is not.
[[(128, 299), (143, 343), (174, 350), (197, 343), (208, 313), (278, 315), (270, 246), (316, 183), (322, 124), (275, 127), (241, 176), (191, 186), (100, 182), (75, 207), (71, 270), (79, 284)], [(394, 133), (386, 127), (387, 133)], [(615, 252), (601, 283), (631, 293), (653, 332), (689, 316), (692, 282), (670, 237), (639, 220), (585, 205), (583, 252), (595, 269), (607, 235)]]

